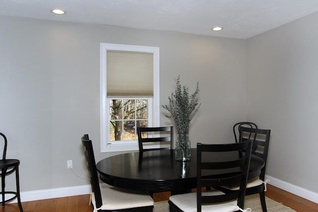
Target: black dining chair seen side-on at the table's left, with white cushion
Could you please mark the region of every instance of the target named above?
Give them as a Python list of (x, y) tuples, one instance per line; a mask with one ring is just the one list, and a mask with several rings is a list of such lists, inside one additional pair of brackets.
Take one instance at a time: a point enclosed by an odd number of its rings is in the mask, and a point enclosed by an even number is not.
[(94, 151), (88, 135), (81, 138), (84, 155), (88, 164), (92, 189), (90, 202), (93, 212), (152, 212), (154, 200), (147, 192), (120, 189), (112, 186), (99, 186)]

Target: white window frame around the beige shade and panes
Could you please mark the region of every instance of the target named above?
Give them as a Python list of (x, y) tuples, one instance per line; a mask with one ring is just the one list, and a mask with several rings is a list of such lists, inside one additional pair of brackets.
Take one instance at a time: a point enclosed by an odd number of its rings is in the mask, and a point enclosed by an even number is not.
[(159, 47), (100, 44), (100, 144), (101, 152), (139, 150), (138, 141), (108, 141), (109, 102), (107, 98), (107, 51), (152, 53), (154, 56), (154, 97), (149, 104), (149, 127), (160, 126)]

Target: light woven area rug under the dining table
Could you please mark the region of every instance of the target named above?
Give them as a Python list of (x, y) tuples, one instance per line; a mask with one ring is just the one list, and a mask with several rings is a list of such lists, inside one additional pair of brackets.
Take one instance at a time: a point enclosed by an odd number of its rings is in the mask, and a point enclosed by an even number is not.
[[(267, 197), (266, 207), (267, 212), (295, 212), (294, 210), (274, 201)], [(250, 195), (245, 197), (245, 209), (250, 208), (252, 212), (262, 212), (262, 207), (260, 205), (259, 195)], [(161, 201), (155, 203), (154, 212), (168, 212), (169, 204), (168, 201)]]

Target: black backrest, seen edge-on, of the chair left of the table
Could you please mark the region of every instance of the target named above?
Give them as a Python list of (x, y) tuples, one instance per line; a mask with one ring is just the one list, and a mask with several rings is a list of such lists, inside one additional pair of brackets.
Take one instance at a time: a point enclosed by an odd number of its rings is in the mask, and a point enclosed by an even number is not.
[(94, 192), (94, 196), (95, 196), (96, 208), (100, 208), (102, 206), (102, 199), (101, 199), (94, 151), (93, 151), (92, 143), (89, 140), (87, 134), (81, 137), (81, 143), (84, 146), (84, 155), (85, 155), (85, 160), (88, 164), (87, 169), (90, 176), (91, 189), (92, 189), (92, 192)]

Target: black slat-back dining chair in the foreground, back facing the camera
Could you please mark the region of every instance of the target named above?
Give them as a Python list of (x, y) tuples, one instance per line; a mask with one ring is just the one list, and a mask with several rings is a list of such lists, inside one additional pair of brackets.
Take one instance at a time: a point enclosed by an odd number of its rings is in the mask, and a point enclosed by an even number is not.
[[(251, 155), (252, 141), (227, 144), (197, 143), (197, 191), (173, 195), (169, 198), (170, 212), (248, 212), (244, 206), (245, 187)], [(209, 154), (224, 154), (229, 151), (241, 152), (228, 161), (211, 161)], [(245, 153), (242, 153), (244, 151)], [(203, 155), (205, 155), (203, 157)], [(232, 170), (218, 177), (202, 176), (209, 170)], [(230, 177), (229, 177), (230, 176)], [(218, 187), (232, 183), (239, 184), (239, 190), (223, 193), (218, 190), (201, 191), (203, 187)]]

